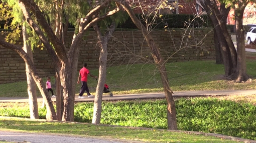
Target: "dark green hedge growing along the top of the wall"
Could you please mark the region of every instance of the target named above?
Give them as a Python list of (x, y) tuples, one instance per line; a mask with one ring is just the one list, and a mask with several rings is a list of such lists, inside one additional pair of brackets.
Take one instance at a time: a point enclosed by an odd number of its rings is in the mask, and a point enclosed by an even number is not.
[[(188, 25), (191, 27), (211, 27), (210, 19), (207, 15), (201, 15), (200, 17), (194, 17), (191, 14), (159, 14), (156, 21), (152, 25), (147, 25), (143, 15), (137, 14), (137, 17), (141, 19), (141, 22), (145, 26), (153, 26), (152, 28), (164, 28), (168, 26), (169, 28), (186, 28)], [(149, 21), (153, 17), (149, 17)], [(194, 19), (195, 20), (192, 20)], [(118, 28), (137, 28), (133, 23), (132, 19), (129, 17), (125, 23), (119, 24)]]

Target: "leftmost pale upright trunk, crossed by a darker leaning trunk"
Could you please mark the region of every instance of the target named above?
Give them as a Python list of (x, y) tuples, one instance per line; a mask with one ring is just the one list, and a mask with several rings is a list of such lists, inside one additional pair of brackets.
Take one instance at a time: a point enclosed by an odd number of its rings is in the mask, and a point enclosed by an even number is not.
[[(27, 52), (28, 56), (33, 62), (33, 53), (30, 42), (28, 41), (29, 35), (27, 33), (26, 21), (23, 17), (22, 24), (22, 34), (23, 34), (23, 50)], [(26, 74), (28, 82), (28, 94), (29, 94), (29, 108), (30, 108), (30, 118), (39, 118), (38, 114), (38, 104), (37, 104), (37, 86), (34, 81), (31, 71), (29, 70), (28, 64), (26, 63)]]

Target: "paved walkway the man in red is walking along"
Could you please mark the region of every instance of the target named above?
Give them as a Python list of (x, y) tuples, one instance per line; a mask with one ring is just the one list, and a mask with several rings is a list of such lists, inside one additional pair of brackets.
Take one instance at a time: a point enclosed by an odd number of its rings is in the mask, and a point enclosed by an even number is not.
[[(255, 90), (204, 90), (204, 91), (177, 91), (173, 93), (173, 97), (195, 97), (195, 96), (217, 96), (217, 95), (253, 95)], [(114, 94), (112, 97), (103, 95), (102, 100), (131, 100), (143, 98), (165, 98), (164, 93), (143, 93), (143, 94)], [(38, 97), (38, 102), (42, 102), (43, 98)], [(56, 101), (56, 98), (52, 98)], [(94, 98), (80, 99), (75, 97), (76, 102), (94, 101)], [(28, 97), (0, 97), (0, 102), (29, 102)]]

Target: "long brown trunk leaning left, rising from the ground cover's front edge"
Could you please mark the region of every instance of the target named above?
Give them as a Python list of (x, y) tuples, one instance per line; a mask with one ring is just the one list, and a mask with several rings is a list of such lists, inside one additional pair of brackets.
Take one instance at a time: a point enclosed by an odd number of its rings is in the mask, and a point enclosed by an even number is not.
[(148, 32), (146, 27), (140, 22), (140, 20), (136, 17), (134, 14), (133, 9), (130, 7), (130, 5), (125, 0), (114, 0), (118, 3), (120, 3), (124, 9), (127, 11), (127, 13), (132, 18), (133, 22), (136, 24), (136, 26), (142, 30), (144, 37), (146, 38), (146, 41), (149, 45), (149, 47), (152, 50), (153, 58), (155, 60), (155, 63), (160, 71), (161, 80), (163, 83), (164, 91), (165, 91), (165, 97), (167, 100), (167, 122), (168, 122), (168, 129), (177, 129), (177, 119), (176, 119), (176, 108), (175, 108), (175, 101), (172, 96), (172, 90), (169, 85), (168, 76), (166, 73), (166, 67), (165, 67), (165, 61), (162, 58), (162, 55), (160, 54), (160, 51), (158, 47), (156, 46), (153, 37)]

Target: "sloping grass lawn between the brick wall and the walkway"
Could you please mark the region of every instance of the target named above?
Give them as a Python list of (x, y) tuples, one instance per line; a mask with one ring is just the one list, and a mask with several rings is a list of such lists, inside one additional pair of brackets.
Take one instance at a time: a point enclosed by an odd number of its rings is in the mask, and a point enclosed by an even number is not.
[[(255, 56), (256, 53), (247, 53)], [(224, 66), (215, 64), (214, 60), (184, 61), (167, 63), (169, 83), (173, 91), (185, 90), (233, 90), (255, 89), (256, 62), (247, 60), (247, 74), (252, 82), (235, 83), (224, 79)], [(88, 67), (89, 68), (89, 67)], [(97, 69), (90, 69), (98, 76)], [(43, 78), (46, 82), (46, 78)], [(77, 79), (75, 79), (77, 80)], [(54, 77), (52, 77), (52, 84)], [(113, 94), (163, 92), (160, 73), (153, 64), (128, 64), (107, 68), (106, 83)], [(88, 77), (88, 86), (95, 93), (97, 80)], [(27, 97), (27, 81), (0, 84), (0, 97)], [(54, 89), (54, 88), (53, 88)], [(76, 84), (78, 95), (80, 84)], [(54, 89), (55, 91), (55, 89)], [(38, 91), (38, 96), (41, 96)]]

